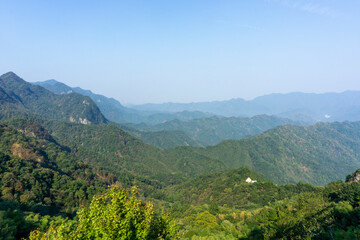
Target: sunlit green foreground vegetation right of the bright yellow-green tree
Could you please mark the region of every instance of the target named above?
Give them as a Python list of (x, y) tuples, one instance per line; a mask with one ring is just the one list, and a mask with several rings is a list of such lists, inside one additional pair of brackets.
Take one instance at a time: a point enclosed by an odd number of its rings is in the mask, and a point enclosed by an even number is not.
[[(337, 191), (348, 187), (335, 185)], [(210, 213), (213, 207), (207, 204), (187, 205), (186, 211), (174, 216), (183, 239), (360, 239), (360, 208), (331, 200), (331, 194), (329, 189), (294, 194), (253, 210), (224, 205)], [(343, 196), (351, 195), (345, 191)]]

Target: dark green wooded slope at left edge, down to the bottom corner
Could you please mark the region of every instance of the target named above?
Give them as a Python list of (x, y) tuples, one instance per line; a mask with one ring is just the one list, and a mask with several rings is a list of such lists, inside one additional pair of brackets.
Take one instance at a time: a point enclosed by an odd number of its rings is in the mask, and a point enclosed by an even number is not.
[(113, 181), (75, 158), (42, 126), (0, 123), (1, 239), (21, 239), (50, 221), (74, 216)]

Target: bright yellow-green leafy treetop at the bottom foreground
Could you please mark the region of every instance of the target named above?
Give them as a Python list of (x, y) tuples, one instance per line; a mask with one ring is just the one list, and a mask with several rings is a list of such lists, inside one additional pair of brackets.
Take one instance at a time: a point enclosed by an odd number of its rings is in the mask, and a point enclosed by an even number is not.
[(174, 239), (175, 228), (153, 205), (143, 204), (124, 190), (111, 188), (96, 196), (89, 208), (78, 211), (77, 221), (66, 221), (46, 233), (35, 231), (30, 239)]

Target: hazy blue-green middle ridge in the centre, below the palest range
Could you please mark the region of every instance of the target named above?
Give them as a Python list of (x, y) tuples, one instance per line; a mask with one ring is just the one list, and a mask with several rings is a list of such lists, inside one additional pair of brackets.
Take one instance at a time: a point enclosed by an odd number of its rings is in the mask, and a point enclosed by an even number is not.
[(188, 121), (172, 120), (154, 126), (140, 124), (128, 126), (148, 131), (183, 131), (195, 141), (209, 146), (227, 139), (239, 140), (286, 124), (300, 125), (303, 123), (276, 116), (259, 115), (252, 118), (213, 116)]

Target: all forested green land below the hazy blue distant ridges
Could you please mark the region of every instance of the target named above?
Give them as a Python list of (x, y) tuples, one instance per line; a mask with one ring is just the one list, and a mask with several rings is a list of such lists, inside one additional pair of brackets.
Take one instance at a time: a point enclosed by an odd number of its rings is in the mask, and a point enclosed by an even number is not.
[(360, 122), (160, 149), (91, 99), (0, 82), (0, 239), (360, 239)]

